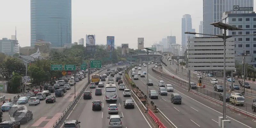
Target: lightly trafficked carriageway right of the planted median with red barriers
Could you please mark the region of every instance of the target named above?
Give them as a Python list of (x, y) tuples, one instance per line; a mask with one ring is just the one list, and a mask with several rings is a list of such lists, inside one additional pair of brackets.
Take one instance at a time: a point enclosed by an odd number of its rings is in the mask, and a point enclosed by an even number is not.
[[(153, 67), (155, 65), (149, 65)], [(158, 91), (158, 80), (163, 80), (156, 76), (149, 67), (149, 79), (154, 82), (153, 86), (148, 86), (148, 90)], [(147, 71), (147, 67), (142, 67), (142, 72)], [(138, 70), (136, 70), (136, 73)], [(129, 72), (131, 74), (131, 71)], [(147, 76), (147, 75), (145, 75)], [(147, 92), (146, 79), (139, 77), (139, 80), (133, 80), (134, 83), (140, 87), (143, 92)], [(166, 84), (172, 84), (169, 81), (164, 80)], [(173, 85), (173, 84), (172, 84)], [(218, 128), (218, 117), (222, 116), (222, 108), (219, 105), (202, 99), (201, 97), (195, 96), (186, 90), (174, 86), (174, 93), (179, 93), (182, 97), (181, 105), (172, 104), (170, 100), (170, 94), (167, 96), (159, 96), (158, 99), (152, 99), (159, 108), (159, 110), (172, 122), (176, 127), (212, 127)], [(255, 127), (254, 122), (244, 119), (243, 116), (238, 116), (232, 112), (227, 112), (228, 118), (232, 122), (232, 127), (237, 128), (252, 128)], [(232, 119), (231, 119), (232, 118)], [(241, 120), (243, 118), (243, 120)], [(241, 121), (241, 122), (240, 122)]]

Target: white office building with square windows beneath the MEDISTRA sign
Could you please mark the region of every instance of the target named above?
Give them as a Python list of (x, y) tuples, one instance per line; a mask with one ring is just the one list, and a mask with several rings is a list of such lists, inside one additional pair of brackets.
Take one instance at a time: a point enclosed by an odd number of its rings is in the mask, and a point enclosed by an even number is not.
[[(256, 33), (256, 14), (232, 14), (224, 12), (222, 22), (243, 30), (228, 31), (227, 35), (244, 35)], [(241, 53), (246, 53), (245, 63), (253, 65), (256, 68), (256, 36), (234, 36), (235, 42), (235, 59), (242, 63)]]

